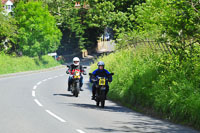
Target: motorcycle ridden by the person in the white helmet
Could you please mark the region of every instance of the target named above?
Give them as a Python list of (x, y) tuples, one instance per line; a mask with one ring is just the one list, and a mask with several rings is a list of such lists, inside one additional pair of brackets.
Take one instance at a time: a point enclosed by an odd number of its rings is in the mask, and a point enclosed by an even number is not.
[[(70, 66), (67, 66), (68, 68)], [(86, 69), (87, 67), (83, 67), (83, 69)], [(66, 72), (67, 74), (69, 74), (69, 72)], [(80, 93), (80, 79), (81, 79), (81, 70), (79, 69), (75, 69), (74, 70), (74, 74), (70, 75), (72, 76), (72, 83), (71, 83), (71, 92), (73, 94), (73, 96), (78, 97), (79, 93)], [(83, 75), (86, 75), (86, 73), (83, 73)]]

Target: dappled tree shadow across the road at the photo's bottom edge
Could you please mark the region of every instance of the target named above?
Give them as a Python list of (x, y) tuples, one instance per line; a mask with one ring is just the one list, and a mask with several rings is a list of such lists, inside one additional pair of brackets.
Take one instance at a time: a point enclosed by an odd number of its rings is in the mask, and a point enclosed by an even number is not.
[(87, 127), (88, 130), (98, 132), (131, 132), (131, 133), (197, 133), (197, 131), (185, 129), (171, 123), (162, 122), (154, 119), (141, 119), (140, 116), (132, 116), (130, 122), (115, 121), (112, 127)]

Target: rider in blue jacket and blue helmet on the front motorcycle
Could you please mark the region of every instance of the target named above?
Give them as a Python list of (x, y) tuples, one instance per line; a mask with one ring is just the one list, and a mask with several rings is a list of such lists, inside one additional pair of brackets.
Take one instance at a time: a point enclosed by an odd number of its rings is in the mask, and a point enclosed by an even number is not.
[[(98, 69), (94, 70), (92, 72), (92, 74), (95, 77), (106, 77), (106, 78), (108, 78), (108, 81), (106, 82), (106, 96), (107, 96), (107, 93), (109, 91), (108, 82), (112, 82), (112, 76), (108, 77), (108, 74), (110, 74), (110, 72), (108, 70), (104, 69), (105, 64), (104, 64), (103, 61), (99, 61), (97, 63), (97, 66), (98, 66)], [(90, 78), (90, 82), (93, 82), (91, 78)], [(93, 86), (92, 86), (92, 100), (95, 100), (95, 93), (96, 93), (96, 84), (95, 84), (95, 82), (93, 82)]]

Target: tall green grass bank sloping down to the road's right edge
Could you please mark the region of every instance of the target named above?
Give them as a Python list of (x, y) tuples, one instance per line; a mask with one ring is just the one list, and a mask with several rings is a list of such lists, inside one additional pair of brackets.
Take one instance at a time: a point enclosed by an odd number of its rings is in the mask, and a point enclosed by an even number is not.
[[(109, 98), (171, 121), (200, 128), (199, 52), (182, 63), (148, 48), (127, 48), (97, 61), (114, 72)], [(96, 69), (96, 62), (91, 66)]]

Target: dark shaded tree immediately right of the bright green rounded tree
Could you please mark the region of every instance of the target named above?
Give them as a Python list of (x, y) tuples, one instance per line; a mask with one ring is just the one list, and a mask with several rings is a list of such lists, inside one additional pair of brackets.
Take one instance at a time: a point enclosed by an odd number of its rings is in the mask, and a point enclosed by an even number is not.
[(49, 0), (45, 1), (49, 5), (50, 13), (56, 18), (59, 28), (63, 32), (61, 53), (72, 50), (85, 49), (88, 39), (85, 38), (87, 26), (84, 22), (87, 9), (83, 8), (83, 1), (79, 1), (81, 6), (75, 8), (75, 2), (71, 0)]

